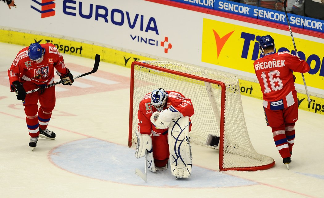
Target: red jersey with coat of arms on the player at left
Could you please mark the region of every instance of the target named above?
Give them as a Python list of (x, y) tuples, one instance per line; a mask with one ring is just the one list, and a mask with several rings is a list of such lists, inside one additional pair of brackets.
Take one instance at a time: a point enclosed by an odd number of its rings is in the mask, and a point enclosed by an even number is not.
[[(31, 81), (37, 85), (49, 85), (54, 82), (54, 68), (61, 73), (67, 74), (63, 56), (57, 48), (51, 44), (41, 44), (45, 49), (44, 59), (41, 63), (33, 63), (28, 56), (28, 47), (20, 50), (8, 70), (9, 82)], [(28, 91), (28, 90), (26, 90)]]

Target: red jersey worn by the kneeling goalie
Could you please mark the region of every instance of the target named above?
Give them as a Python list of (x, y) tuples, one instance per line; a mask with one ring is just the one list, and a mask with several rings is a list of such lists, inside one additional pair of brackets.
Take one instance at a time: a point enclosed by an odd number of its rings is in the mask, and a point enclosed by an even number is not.
[[(194, 114), (193, 106), (191, 103), (191, 99), (184, 97), (181, 93), (176, 91), (166, 91), (168, 93), (168, 100), (166, 101), (166, 105), (164, 109), (168, 109), (171, 105), (177, 109), (181, 116), (189, 116), (191, 117)], [(142, 101), (139, 104), (139, 110), (137, 113), (138, 116), (138, 131), (141, 134), (151, 134), (155, 132), (154, 135), (162, 134), (168, 131), (166, 129), (156, 129), (156, 127), (151, 123), (151, 115), (154, 113), (156, 108), (151, 106), (151, 93), (148, 93), (144, 96)], [(191, 121), (190, 121), (191, 127)]]

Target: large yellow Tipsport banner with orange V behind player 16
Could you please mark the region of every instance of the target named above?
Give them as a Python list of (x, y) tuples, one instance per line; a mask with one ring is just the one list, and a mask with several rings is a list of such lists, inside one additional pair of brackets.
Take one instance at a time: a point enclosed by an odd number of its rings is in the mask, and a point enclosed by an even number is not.
[[(288, 31), (281, 35), (204, 18), (202, 62), (254, 73), (253, 62), (260, 57), (259, 39), (267, 34), (274, 39), (277, 51), (295, 54)], [(311, 68), (304, 75), (307, 86), (324, 89), (324, 43), (294, 39), (299, 57)], [(295, 83), (303, 85), (301, 75), (296, 76)]]

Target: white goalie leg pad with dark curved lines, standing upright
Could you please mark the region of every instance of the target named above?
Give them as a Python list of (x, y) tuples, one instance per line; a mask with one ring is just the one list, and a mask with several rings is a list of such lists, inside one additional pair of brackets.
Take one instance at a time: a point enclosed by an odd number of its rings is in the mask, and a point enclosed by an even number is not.
[(177, 178), (188, 178), (191, 174), (192, 165), (189, 117), (185, 116), (173, 120), (168, 130), (171, 173)]

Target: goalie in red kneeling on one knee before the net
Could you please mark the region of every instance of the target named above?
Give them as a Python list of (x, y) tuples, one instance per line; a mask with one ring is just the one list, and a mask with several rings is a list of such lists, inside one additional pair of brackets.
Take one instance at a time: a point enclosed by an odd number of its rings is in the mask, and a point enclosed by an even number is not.
[(144, 96), (138, 110), (135, 157), (146, 157), (147, 169), (170, 169), (178, 178), (191, 175), (191, 99), (177, 91), (153, 90)]

